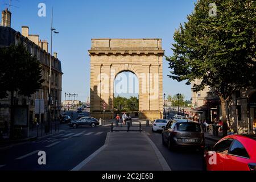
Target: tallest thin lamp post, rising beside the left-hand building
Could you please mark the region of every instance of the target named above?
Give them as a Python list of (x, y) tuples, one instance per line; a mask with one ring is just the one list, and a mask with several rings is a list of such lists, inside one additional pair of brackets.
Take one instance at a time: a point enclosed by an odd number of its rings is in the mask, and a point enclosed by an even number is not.
[(50, 63), (49, 63), (49, 120), (48, 120), (48, 126), (51, 126), (51, 77), (52, 77), (52, 33), (59, 34), (59, 32), (56, 32), (55, 28), (52, 27), (53, 22), (53, 8), (52, 8), (52, 21), (51, 21), (51, 56), (50, 56)]

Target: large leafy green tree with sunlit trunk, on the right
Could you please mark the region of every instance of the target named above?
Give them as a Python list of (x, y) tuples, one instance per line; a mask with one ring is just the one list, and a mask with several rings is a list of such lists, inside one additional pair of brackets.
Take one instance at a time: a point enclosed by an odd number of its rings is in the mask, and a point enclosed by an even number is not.
[(227, 102), (241, 88), (255, 86), (255, 9), (252, 0), (216, 0), (217, 15), (209, 15), (212, 1), (198, 1), (180, 24), (172, 44), (174, 56), (168, 58), (170, 78), (177, 81), (200, 79), (193, 85), (197, 92), (205, 86), (216, 90), (220, 97), (224, 136), (227, 135)]

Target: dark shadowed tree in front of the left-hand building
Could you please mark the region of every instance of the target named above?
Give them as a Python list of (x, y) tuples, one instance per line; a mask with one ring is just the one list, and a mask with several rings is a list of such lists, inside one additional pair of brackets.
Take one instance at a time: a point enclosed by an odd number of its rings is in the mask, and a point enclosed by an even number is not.
[(11, 95), (11, 127), (10, 137), (14, 129), (14, 92), (31, 97), (42, 88), (42, 73), (40, 63), (22, 45), (1, 48), (0, 51), (0, 98)]

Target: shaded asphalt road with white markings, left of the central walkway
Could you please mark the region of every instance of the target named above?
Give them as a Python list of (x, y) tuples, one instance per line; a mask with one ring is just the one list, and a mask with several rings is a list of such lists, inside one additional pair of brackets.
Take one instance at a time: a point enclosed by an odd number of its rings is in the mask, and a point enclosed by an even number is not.
[[(0, 150), (0, 171), (71, 170), (103, 146), (110, 131), (106, 127), (61, 127), (63, 133)], [(38, 151), (46, 152), (46, 165), (38, 164)]]

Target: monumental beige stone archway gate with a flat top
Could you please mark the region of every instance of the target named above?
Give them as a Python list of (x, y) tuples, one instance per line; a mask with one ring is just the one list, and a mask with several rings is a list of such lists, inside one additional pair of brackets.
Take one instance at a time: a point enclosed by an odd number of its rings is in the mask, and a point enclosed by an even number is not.
[(89, 55), (92, 117), (114, 117), (114, 80), (123, 71), (138, 77), (139, 118), (163, 117), (162, 39), (92, 39)]

